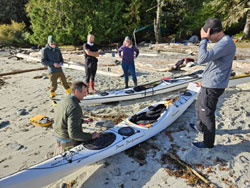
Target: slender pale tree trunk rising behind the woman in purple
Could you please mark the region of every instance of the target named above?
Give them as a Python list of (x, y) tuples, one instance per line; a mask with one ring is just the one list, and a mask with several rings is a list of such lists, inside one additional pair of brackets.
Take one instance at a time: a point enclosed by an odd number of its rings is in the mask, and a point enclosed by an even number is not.
[(155, 43), (156, 44), (161, 42), (161, 12), (162, 12), (161, 7), (162, 7), (162, 0), (157, 0), (156, 19), (154, 20)]

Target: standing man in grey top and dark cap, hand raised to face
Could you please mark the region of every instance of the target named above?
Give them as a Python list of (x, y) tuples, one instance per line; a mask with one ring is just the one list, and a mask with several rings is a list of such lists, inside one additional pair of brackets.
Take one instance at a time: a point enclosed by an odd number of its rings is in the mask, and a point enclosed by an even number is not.
[[(213, 148), (215, 141), (215, 110), (218, 98), (228, 85), (236, 47), (233, 40), (224, 34), (217, 18), (208, 18), (201, 28), (198, 64), (207, 63), (203, 72), (196, 101), (196, 124), (190, 126), (203, 133), (203, 142), (194, 142), (198, 148)], [(208, 40), (214, 46), (207, 50)]]

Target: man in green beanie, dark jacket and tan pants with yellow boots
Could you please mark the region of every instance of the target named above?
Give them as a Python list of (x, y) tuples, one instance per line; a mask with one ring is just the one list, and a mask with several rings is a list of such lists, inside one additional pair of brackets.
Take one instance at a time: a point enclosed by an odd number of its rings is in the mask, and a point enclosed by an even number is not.
[(52, 99), (52, 104), (55, 106), (56, 101), (53, 99), (55, 98), (58, 78), (68, 95), (70, 95), (71, 91), (61, 67), (63, 64), (62, 53), (56, 46), (55, 38), (52, 35), (48, 37), (48, 44), (42, 50), (42, 64), (48, 67), (50, 79), (50, 98)]

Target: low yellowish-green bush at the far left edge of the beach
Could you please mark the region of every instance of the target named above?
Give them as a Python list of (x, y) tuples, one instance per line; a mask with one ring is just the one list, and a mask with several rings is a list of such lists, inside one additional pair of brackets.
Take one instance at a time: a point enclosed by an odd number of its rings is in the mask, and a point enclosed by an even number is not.
[(11, 21), (0, 25), (0, 44), (4, 46), (26, 46), (25, 24)]

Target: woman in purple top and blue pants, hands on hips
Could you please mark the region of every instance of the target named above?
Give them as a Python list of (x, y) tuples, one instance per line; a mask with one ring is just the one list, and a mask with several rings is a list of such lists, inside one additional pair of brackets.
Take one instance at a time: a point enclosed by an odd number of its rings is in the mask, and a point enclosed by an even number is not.
[(134, 85), (137, 86), (134, 59), (138, 57), (139, 50), (134, 45), (132, 45), (130, 37), (125, 37), (123, 45), (118, 50), (118, 54), (120, 58), (122, 58), (122, 69), (124, 72), (125, 88), (128, 88), (128, 70), (132, 75)]

